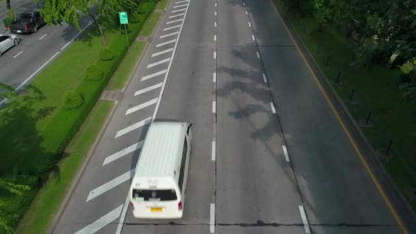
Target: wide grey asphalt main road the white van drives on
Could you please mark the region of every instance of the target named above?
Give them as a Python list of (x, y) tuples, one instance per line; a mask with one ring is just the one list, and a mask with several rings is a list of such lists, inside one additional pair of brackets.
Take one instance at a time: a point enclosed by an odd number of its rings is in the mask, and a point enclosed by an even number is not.
[[(194, 123), (181, 220), (127, 200), (149, 121)], [(172, 0), (54, 233), (401, 233), (268, 0)]]

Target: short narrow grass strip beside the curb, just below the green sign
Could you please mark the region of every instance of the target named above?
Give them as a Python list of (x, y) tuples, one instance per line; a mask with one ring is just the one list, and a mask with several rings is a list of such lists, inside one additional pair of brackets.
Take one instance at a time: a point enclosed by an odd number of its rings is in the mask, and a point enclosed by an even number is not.
[(125, 88), (131, 73), (133, 73), (135, 65), (142, 55), (144, 47), (146, 47), (146, 42), (135, 41), (131, 45), (129, 52), (122, 60), (120, 66), (118, 66), (116, 72), (114, 73), (112, 79), (110, 79), (107, 90), (122, 90)]

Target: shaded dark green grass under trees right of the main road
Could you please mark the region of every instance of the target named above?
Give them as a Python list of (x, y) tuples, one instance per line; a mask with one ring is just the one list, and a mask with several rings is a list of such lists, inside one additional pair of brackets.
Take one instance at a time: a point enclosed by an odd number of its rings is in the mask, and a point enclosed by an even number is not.
[[(276, 2), (287, 10), (286, 1)], [(363, 128), (372, 146), (376, 150), (386, 148), (389, 140), (393, 140), (395, 157), (384, 162), (404, 196), (416, 209), (416, 199), (408, 194), (409, 188), (416, 187), (416, 178), (409, 173), (416, 170), (416, 105), (406, 103), (401, 97), (398, 89), (400, 71), (385, 66), (374, 66), (369, 70), (354, 68), (351, 66), (352, 51), (356, 45), (330, 25), (324, 27), (324, 32), (317, 32), (317, 21), (311, 14), (312, 4), (303, 4), (302, 11), (305, 12), (304, 18), (287, 13), (291, 25), (333, 83), (341, 99), (349, 99), (354, 88), (357, 103), (346, 106), (355, 120), (365, 119), (368, 112), (372, 111), (374, 127)], [(338, 71), (341, 71), (341, 84), (334, 83)]]

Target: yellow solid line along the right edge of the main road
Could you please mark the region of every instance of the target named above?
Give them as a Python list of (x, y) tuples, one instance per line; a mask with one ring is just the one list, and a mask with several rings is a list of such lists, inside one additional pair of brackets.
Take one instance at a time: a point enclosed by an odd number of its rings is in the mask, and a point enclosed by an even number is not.
[(341, 125), (343, 131), (346, 133), (348, 140), (350, 140), (352, 147), (354, 148), (356, 154), (359, 156), (359, 158), (361, 159), (361, 163), (363, 164), (363, 166), (365, 167), (365, 169), (367, 170), (369, 177), (371, 177), (374, 185), (376, 185), (378, 192), (380, 192), (380, 195), (382, 196), (383, 200), (385, 200), (385, 203), (387, 205), (387, 207), (389, 207), (389, 210), (391, 212), (391, 214), (393, 215), (395, 222), (398, 223), (398, 226), (400, 227), (400, 229), (402, 230), (402, 232), (404, 234), (408, 234), (408, 231), (406, 230), (406, 228), (403, 225), (402, 220), (400, 219), (400, 217), (398, 216), (398, 213), (395, 211), (393, 205), (391, 205), (391, 202), (389, 200), (389, 198), (387, 198), (384, 190), (382, 190), (382, 187), (380, 185), (380, 183), (378, 182), (378, 180), (376, 179), (376, 176), (374, 176), (372, 170), (369, 168), (367, 161), (365, 161), (363, 154), (361, 153), (361, 151), (359, 150), (359, 147), (356, 146), (356, 143), (354, 142), (354, 140), (352, 139), (351, 133), (350, 131), (348, 131), (346, 125), (343, 123), (343, 121), (341, 120), (341, 117), (339, 116), (338, 112), (335, 110), (335, 107), (333, 105), (333, 103), (330, 101), (328, 94), (326, 94), (324, 88), (322, 88), (322, 85), (320, 83), (320, 81), (317, 79), (315, 73), (313, 72), (311, 66), (309, 65), (309, 63), (307, 62), (306, 58), (304, 57), (302, 51), (300, 51), (298, 44), (296, 43), (296, 40), (294, 40), (294, 37), (292, 36), (291, 32), (289, 31), (289, 29), (287, 28), (287, 25), (285, 24), (285, 22), (283, 21), (283, 18), (281, 16), (281, 14), (279, 14), (276, 5), (274, 5), (273, 1), (270, 0), (270, 3), (272, 4), (274, 11), (276, 12), (278, 18), (280, 19), (281, 23), (283, 24), (283, 26), (285, 27), (285, 30), (287, 31), (287, 34), (289, 34), (292, 42), (294, 42), (296, 49), (298, 50), (300, 56), (302, 57), (302, 60), (304, 62), (304, 64), (306, 64), (309, 72), (311, 73), (311, 75), (313, 76), (313, 79), (315, 79), (315, 82), (317, 83), (318, 88), (320, 88), (321, 93), (324, 95), (324, 98), (326, 99), (326, 102), (328, 103), (328, 105), (330, 106), (330, 109), (332, 109), (333, 113), (335, 114), (335, 117), (337, 118), (339, 124)]

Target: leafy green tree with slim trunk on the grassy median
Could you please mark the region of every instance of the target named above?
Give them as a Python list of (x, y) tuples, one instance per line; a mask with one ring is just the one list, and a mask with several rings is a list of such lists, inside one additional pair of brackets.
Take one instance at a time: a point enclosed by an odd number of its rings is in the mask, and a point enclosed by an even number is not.
[[(39, 0), (35, 0), (38, 2)], [(90, 8), (93, 5), (94, 9)], [(135, 6), (133, 0), (45, 0), (40, 14), (42, 14), (44, 21), (47, 23), (56, 23), (65, 21), (70, 25), (75, 25), (77, 29), (79, 26), (79, 19), (83, 14), (89, 15), (94, 23), (97, 25), (100, 35), (103, 38), (103, 44), (107, 44), (105, 33), (101, 23), (97, 20), (101, 15), (103, 21), (114, 21), (115, 16), (119, 11), (130, 10)]]

